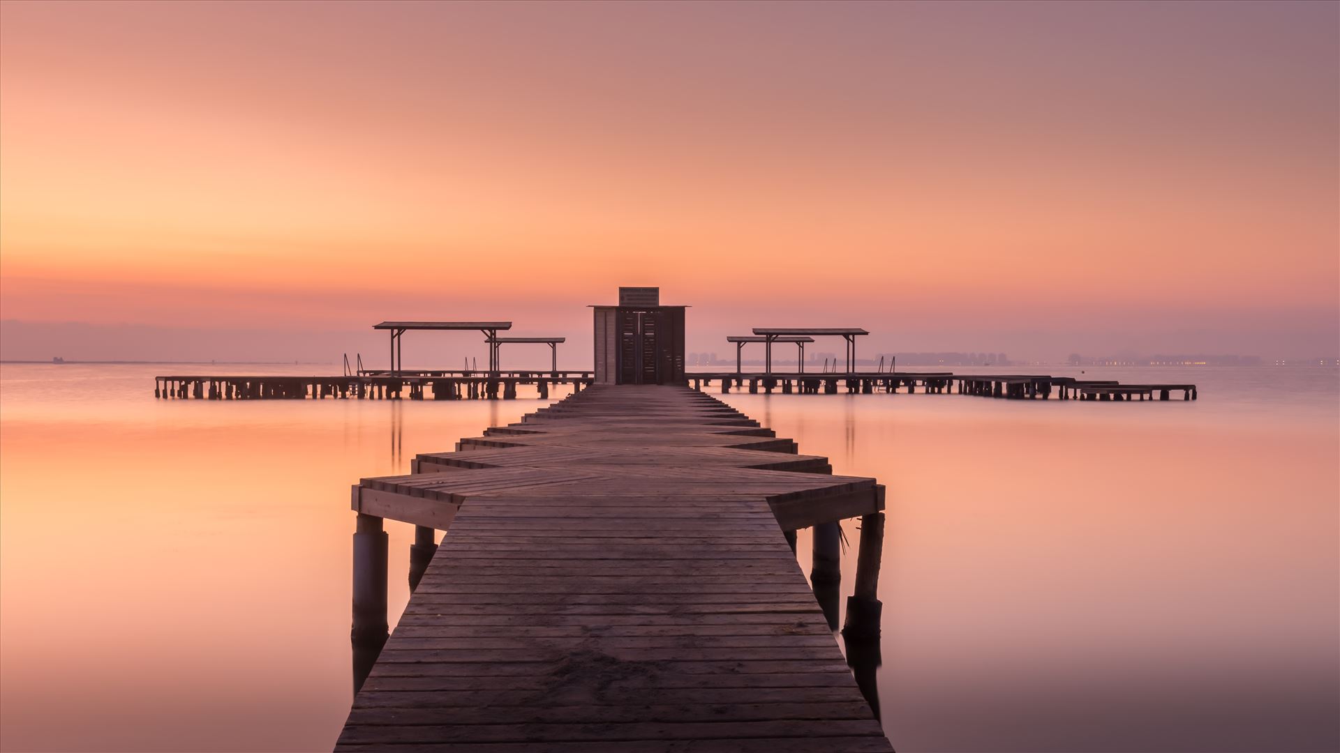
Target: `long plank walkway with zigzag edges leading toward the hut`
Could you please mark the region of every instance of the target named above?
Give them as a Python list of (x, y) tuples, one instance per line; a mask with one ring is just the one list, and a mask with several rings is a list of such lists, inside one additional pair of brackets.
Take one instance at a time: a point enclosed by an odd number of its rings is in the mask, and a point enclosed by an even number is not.
[[(360, 689), (338, 750), (892, 750), (862, 695), (874, 670), (848, 669), (878, 655), (874, 480), (654, 385), (596, 385), (413, 469), (354, 486)], [(389, 638), (387, 517), (419, 527)], [(844, 659), (848, 517), (862, 532)], [(813, 591), (793, 552), (807, 527)]]

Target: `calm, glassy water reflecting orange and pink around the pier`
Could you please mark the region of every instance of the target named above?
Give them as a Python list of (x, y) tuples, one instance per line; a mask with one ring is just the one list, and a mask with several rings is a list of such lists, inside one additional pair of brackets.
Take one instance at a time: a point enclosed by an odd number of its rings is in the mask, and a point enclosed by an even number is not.
[[(541, 405), (153, 399), (177, 368), (0, 367), (5, 750), (328, 749), (348, 485)], [(1337, 371), (1088, 371), (1201, 399), (726, 398), (888, 488), (894, 745), (1340, 748)]]

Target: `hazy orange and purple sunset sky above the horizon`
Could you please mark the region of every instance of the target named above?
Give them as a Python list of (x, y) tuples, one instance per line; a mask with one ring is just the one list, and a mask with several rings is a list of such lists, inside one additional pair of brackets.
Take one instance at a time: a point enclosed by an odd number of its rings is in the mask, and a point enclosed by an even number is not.
[(721, 355), (863, 326), (867, 354), (1335, 356), (1337, 28), (1336, 3), (4, 3), (0, 355), (375, 363), (383, 319), (511, 319), (579, 366), (584, 305), (641, 284)]

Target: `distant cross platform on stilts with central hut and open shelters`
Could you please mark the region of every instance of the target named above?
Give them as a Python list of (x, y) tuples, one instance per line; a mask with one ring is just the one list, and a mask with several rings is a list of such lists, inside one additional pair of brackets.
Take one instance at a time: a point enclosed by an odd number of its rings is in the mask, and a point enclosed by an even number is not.
[[(390, 332), (390, 368), (363, 368), (351, 371), (344, 356), (340, 376), (157, 376), (155, 398), (205, 399), (288, 399), (288, 398), (374, 398), (374, 399), (511, 399), (517, 397), (517, 386), (533, 385), (544, 399), (555, 385), (571, 385), (574, 391), (594, 383), (602, 385), (685, 385), (704, 390), (712, 382), (721, 385), (722, 393), (732, 387), (750, 393), (781, 390), (783, 394), (836, 394), (848, 393), (896, 394), (900, 389), (915, 393), (982, 395), (1010, 399), (1047, 399), (1052, 393), (1059, 399), (1080, 401), (1144, 401), (1171, 399), (1181, 393), (1183, 401), (1197, 398), (1195, 385), (1120, 385), (1110, 381), (1083, 381), (1045, 374), (953, 374), (931, 372), (875, 372), (856, 371), (856, 338), (870, 332), (862, 327), (754, 327), (753, 335), (726, 338), (736, 346), (736, 371), (686, 372), (683, 358), (683, 305), (661, 305), (661, 288), (620, 287), (619, 305), (594, 305), (595, 351), (591, 371), (559, 371), (557, 346), (565, 338), (500, 338), (500, 331), (512, 328), (511, 322), (382, 322), (374, 330)], [(489, 348), (488, 368), (406, 371), (401, 350), (406, 332), (460, 332), (484, 334)], [(842, 338), (846, 360), (842, 372), (805, 374), (805, 343), (816, 336)], [(547, 344), (551, 350), (551, 370), (503, 371), (498, 351), (503, 344)], [(762, 374), (744, 374), (741, 351), (748, 343), (762, 343), (765, 370)], [(800, 359), (796, 374), (772, 371), (772, 346), (796, 344)], [(470, 366), (468, 362), (466, 366)]]

